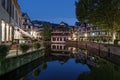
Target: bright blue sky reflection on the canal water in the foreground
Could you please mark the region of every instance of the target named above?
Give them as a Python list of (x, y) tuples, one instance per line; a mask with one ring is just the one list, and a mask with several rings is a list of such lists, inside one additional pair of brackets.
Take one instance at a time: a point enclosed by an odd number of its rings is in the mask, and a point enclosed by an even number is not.
[[(76, 80), (79, 74), (90, 72), (87, 65), (76, 64), (74, 59), (69, 59), (61, 65), (58, 60), (47, 62), (47, 68), (42, 70), (42, 65), (38, 68), (41, 70), (40, 75), (34, 77), (30, 72), (27, 77), (29, 80)], [(73, 66), (74, 65), (74, 66)]]

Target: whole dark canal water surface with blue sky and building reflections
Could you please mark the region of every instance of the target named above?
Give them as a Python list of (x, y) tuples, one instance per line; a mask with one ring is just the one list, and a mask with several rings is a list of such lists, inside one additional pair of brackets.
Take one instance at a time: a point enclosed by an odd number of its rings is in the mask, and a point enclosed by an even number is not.
[(51, 44), (44, 52), (40, 59), (0, 76), (0, 80), (120, 80), (119, 64), (87, 50)]

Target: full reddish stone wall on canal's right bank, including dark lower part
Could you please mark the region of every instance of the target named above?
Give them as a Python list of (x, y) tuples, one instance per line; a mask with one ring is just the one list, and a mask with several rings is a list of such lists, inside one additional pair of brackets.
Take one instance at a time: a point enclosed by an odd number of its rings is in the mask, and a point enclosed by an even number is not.
[(66, 45), (87, 49), (90, 54), (98, 55), (120, 65), (120, 47), (94, 42), (67, 41)]

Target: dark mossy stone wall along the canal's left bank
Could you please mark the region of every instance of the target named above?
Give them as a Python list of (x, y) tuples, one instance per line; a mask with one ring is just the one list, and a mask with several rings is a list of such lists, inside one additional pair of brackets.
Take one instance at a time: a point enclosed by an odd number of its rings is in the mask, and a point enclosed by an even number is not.
[(7, 58), (0, 62), (0, 75), (19, 68), (33, 60), (36, 60), (44, 55), (42, 50), (30, 52), (17, 57)]

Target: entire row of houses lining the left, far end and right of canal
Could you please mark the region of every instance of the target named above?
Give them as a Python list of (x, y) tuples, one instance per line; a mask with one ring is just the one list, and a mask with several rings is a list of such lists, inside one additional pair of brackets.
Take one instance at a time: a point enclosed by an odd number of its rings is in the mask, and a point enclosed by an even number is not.
[(12, 44), (28, 39), (42, 40), (44, 24), (51, 24), (51, 42), (65, 43), (68, 40), (112, 41), (111, 32), (93, 27), (91, 24), (76, 22), (74, 26), (61, 22), (54, 24), (46, 21), (31, 21), (27, 13), (22, 13), (17, 0), (0, 0), (0, 44)]

